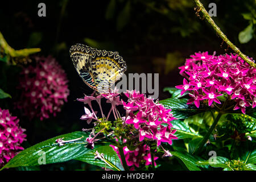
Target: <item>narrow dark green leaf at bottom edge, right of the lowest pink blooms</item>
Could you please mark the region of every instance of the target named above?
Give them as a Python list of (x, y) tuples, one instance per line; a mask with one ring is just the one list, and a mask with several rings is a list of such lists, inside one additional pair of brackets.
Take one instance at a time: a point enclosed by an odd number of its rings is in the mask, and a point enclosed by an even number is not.
[(177, 151), (172, 151), (171, 154), (182, 160), (182, 162), (189, 169), (189, 171), (201, 171), (201, 169), (196, 166), (197, 159), (194, 158), (192, 155), (184, 154)]

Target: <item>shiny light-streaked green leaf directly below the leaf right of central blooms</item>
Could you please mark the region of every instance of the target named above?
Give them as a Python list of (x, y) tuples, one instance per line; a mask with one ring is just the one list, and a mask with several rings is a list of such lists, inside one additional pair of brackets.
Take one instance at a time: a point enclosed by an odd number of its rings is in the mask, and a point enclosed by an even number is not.
[(203, 136), (193, 133), (190, 129), (189, 126), (186, 125), (183, 121), (180, 120), (173, 120), (171, 121), (172, 126), (174, 127), (175, 130), (175, 136), (178, 139), (185, 139), (185, 138), (194, 138), (194, 137), (199, 137), (203, 138)]

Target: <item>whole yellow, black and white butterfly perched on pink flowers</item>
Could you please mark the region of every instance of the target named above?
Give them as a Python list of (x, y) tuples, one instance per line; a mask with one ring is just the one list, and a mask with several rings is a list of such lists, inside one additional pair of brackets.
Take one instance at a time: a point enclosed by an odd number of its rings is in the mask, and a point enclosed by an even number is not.
[(82, 80), (98, 93), (109, 92), (110, 87), (127, 69), (118, 52), (101, 51), (83, 44), (75, 44), (69, 54)]

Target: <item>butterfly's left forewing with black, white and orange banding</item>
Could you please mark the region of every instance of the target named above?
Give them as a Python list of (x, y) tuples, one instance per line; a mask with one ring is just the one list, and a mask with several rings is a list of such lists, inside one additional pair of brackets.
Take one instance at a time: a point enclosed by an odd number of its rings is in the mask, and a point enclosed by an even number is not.
[(88, 68), (90, 67), (90, 60), (92, 59), (93, 55), (92, 49), (82, 44), (76, 44), (71, 47), (69, 54), (76, 68), (76, 71), (79, 73), (85, 84), (90, 86), (90, 88), (97, 90), (93, 77), (88, 72)]

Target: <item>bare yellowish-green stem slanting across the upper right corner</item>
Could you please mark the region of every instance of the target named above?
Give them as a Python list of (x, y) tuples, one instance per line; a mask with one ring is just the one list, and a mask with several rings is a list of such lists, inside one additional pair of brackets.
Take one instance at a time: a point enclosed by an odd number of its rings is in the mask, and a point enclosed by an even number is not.
[(243, 60), (245, 60), (246, 63), (251, 65), (251, 67), (256, 68), (256, 64), (253, 63), (253, 61), (251, 61), (245, 54), (243, 54), (240, 51), (240, 49), (238, 49), (232, 42), (230, 42), (230, 40), (226, 37), (226, 35), (214, 23), (213, 19), (210, 17), (210, 15), (208, 14), (207, 10), (205, 10), (204, 5), (200, 2), (200, 0), (194, 0), (194, 1), (196, 2), (196, 5), (199, 7), (199, 11), (202, 11), (202, 13), (204, 14), (204, 17), (207, 19), (207, 21), (210, 23), (210, 25), (213, 27), (213, 29), (217, 32), (217, 34), (221, 37), (221, 39), (224, 40), (224, 42), (226, 44), (228, 44), (228, 46), (230, 48), (232, 48), (233, 51), (238, 54), (238, 56), (240, 56)]

